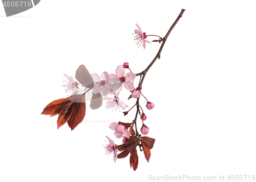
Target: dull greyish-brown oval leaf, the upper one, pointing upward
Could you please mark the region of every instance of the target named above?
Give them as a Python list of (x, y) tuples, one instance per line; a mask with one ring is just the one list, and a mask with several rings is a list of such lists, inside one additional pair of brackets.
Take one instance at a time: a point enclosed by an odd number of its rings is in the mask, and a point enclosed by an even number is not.
[(83, 64), (76, 70), (76, 80), (89, 89), (94, 86), (93, 77)]

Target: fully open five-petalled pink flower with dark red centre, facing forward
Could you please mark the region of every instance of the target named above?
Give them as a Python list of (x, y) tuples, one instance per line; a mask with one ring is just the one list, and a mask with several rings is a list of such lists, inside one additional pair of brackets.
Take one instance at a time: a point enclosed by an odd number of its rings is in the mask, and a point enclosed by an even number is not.
[(116, 74), (110, 74), (110, 81), (116, 83), (113, 85), (113, 92), (114, 93), (119, 93), (122, 88), (123, 88), (123, 84), (124, 84), (124, 87), (127, 89), (127, 90), (130, 90), (130, 91), (133, 91), (134, 90), (134, 85), (132, 82), (130, 81), (133, 81), (136, 77), (136, 75), (134, 73), (125, 73), (125, 69), (122, 65), (118, 65), (117, 68), (116, 68)]

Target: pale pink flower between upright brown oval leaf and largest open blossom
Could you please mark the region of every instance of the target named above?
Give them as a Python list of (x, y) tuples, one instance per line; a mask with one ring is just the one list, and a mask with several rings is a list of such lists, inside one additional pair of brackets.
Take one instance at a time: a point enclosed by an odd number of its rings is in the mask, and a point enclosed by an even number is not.
[(105, 96), (105, 97), (108, 96), (109, 95), (109, 85), (110, 85), (110, 83), (108, 82), (109, 77), (110, 77), (108, 72), (104, 71), (101, 74), (101, 79), (100, 79), (99, 75), (96, 73), (93, 73), (91, 75), (93, 77), (93, 81), (95, 82), (94, 88), (93, 88), (93, 93), (97, 94), (97, 93), (101, 92), (103, 96)]

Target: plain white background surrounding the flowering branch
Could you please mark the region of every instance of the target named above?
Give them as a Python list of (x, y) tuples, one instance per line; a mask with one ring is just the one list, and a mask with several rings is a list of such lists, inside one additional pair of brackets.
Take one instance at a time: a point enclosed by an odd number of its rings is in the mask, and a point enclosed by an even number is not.
[[(135, 73), (145, 69), (160, 44), (138, 48), (135, 23), (164, 37), (181, 9), (142, 86), (155, 103), (147, 110), (140, 99), (147, 136), (156, 139), (150, 163), (138, 151), (133, 171), (129, 157), (114, 163), (104, 153), (105, 136), (121, 144), (108, 128), (111, 121), (131, 122), (135, 110), (123, 117), (104, 106), (92, 111), (87, 102), (84, 121), (73, 131), (67, 123), (57, 129), (57, 116), (40, 115), (48, 103), (67, 97), (63, 74), (75, 78), (81, 64), (99, 75), (115, 73), (123, 62)], [(0, 16), (1, 181), (256, 175), (254, 1), (42, 0), (11, 17), (0, 6)], [(120, 99), (132, 107), (128, 94)]]

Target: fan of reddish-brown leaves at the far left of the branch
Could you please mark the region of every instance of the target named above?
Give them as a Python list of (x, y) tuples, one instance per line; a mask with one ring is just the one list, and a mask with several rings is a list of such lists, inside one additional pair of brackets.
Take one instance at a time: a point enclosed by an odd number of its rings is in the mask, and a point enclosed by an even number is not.
[(73, 130), (86, 115), (86, 102), (84, 94), (71, 95), (68, 98), (54, 100), (46, 106), (41, 114), (55, 116), (57, 119), (57, 128), (68, 122), (69, 127)]

